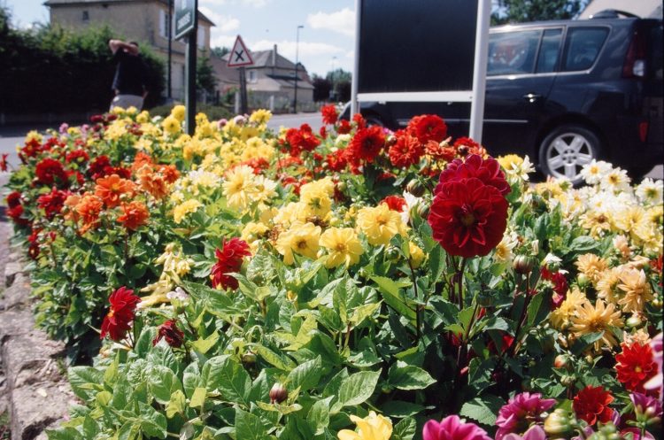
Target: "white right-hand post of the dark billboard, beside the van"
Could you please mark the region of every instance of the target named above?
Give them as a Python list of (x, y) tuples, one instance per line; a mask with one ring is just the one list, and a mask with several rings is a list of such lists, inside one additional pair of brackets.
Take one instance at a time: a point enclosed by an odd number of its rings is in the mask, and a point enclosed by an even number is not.
[(476, 142), (482, 143), (484, 120), (484, 94), (486, 91), (486, 64), (489, 52), (490, 0), (477, 2), (477, 27), (475, 31), (475, 66), (473, 68), (473, 97), (470, 104), (470, 133)]

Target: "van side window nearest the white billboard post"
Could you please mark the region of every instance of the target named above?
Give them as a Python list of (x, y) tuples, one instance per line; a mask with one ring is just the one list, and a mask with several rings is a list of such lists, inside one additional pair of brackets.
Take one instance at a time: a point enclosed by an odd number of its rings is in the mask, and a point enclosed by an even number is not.
[(489, 35), (487, 75), (533, 73), (541, 30)]

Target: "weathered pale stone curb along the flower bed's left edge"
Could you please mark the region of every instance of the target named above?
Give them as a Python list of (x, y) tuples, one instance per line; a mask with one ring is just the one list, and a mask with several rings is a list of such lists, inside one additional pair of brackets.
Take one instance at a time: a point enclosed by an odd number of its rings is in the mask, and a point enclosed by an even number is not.
[[(0, 225), (9, 228), (9, 225)], [(76, 398), (66, 380), (65, 344), (50, 340), (35, 329), (30, 282), (19, 252), (11, 252), (6, 240), (0, 251), (9, 255), (0, 274), (6, 286), (0, 293), (0, 401), (6, 399), (12, 440), (45, 440), (45, 428), (66, 420)], [(0, 402), (0, 413), (3, 404)]]

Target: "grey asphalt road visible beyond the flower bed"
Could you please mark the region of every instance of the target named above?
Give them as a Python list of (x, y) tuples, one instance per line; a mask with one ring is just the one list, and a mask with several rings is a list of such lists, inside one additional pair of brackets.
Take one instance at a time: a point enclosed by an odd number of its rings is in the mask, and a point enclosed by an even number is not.
[[(309, 124), (314, 132), (318, 132), (322, 125), (320, 113), (297, 113), (297, 114), (275, 114), (267, 123), (267, 126), (278, 130), (279, 127), (299, 127), (302, 124)], [(47, 127), (36, 127), (40, 131)], [(16, 154), (16, 146), (23, 143), (25, 135), (35, 127), (0, 127), (0, 154), (8, 153), (8, 162), (10, 166), (19, 165), (19, 156)], [(664, 179), (664, 166), (657, 165), (646, 177), (652, 179)]]

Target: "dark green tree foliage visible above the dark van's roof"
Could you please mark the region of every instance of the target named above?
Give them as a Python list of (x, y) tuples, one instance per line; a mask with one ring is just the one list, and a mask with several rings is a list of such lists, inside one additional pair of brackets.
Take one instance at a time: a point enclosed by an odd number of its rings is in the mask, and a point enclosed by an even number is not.
[(589, 0), (494, 0), (491, 24), (572, 19), (588, 3)]

